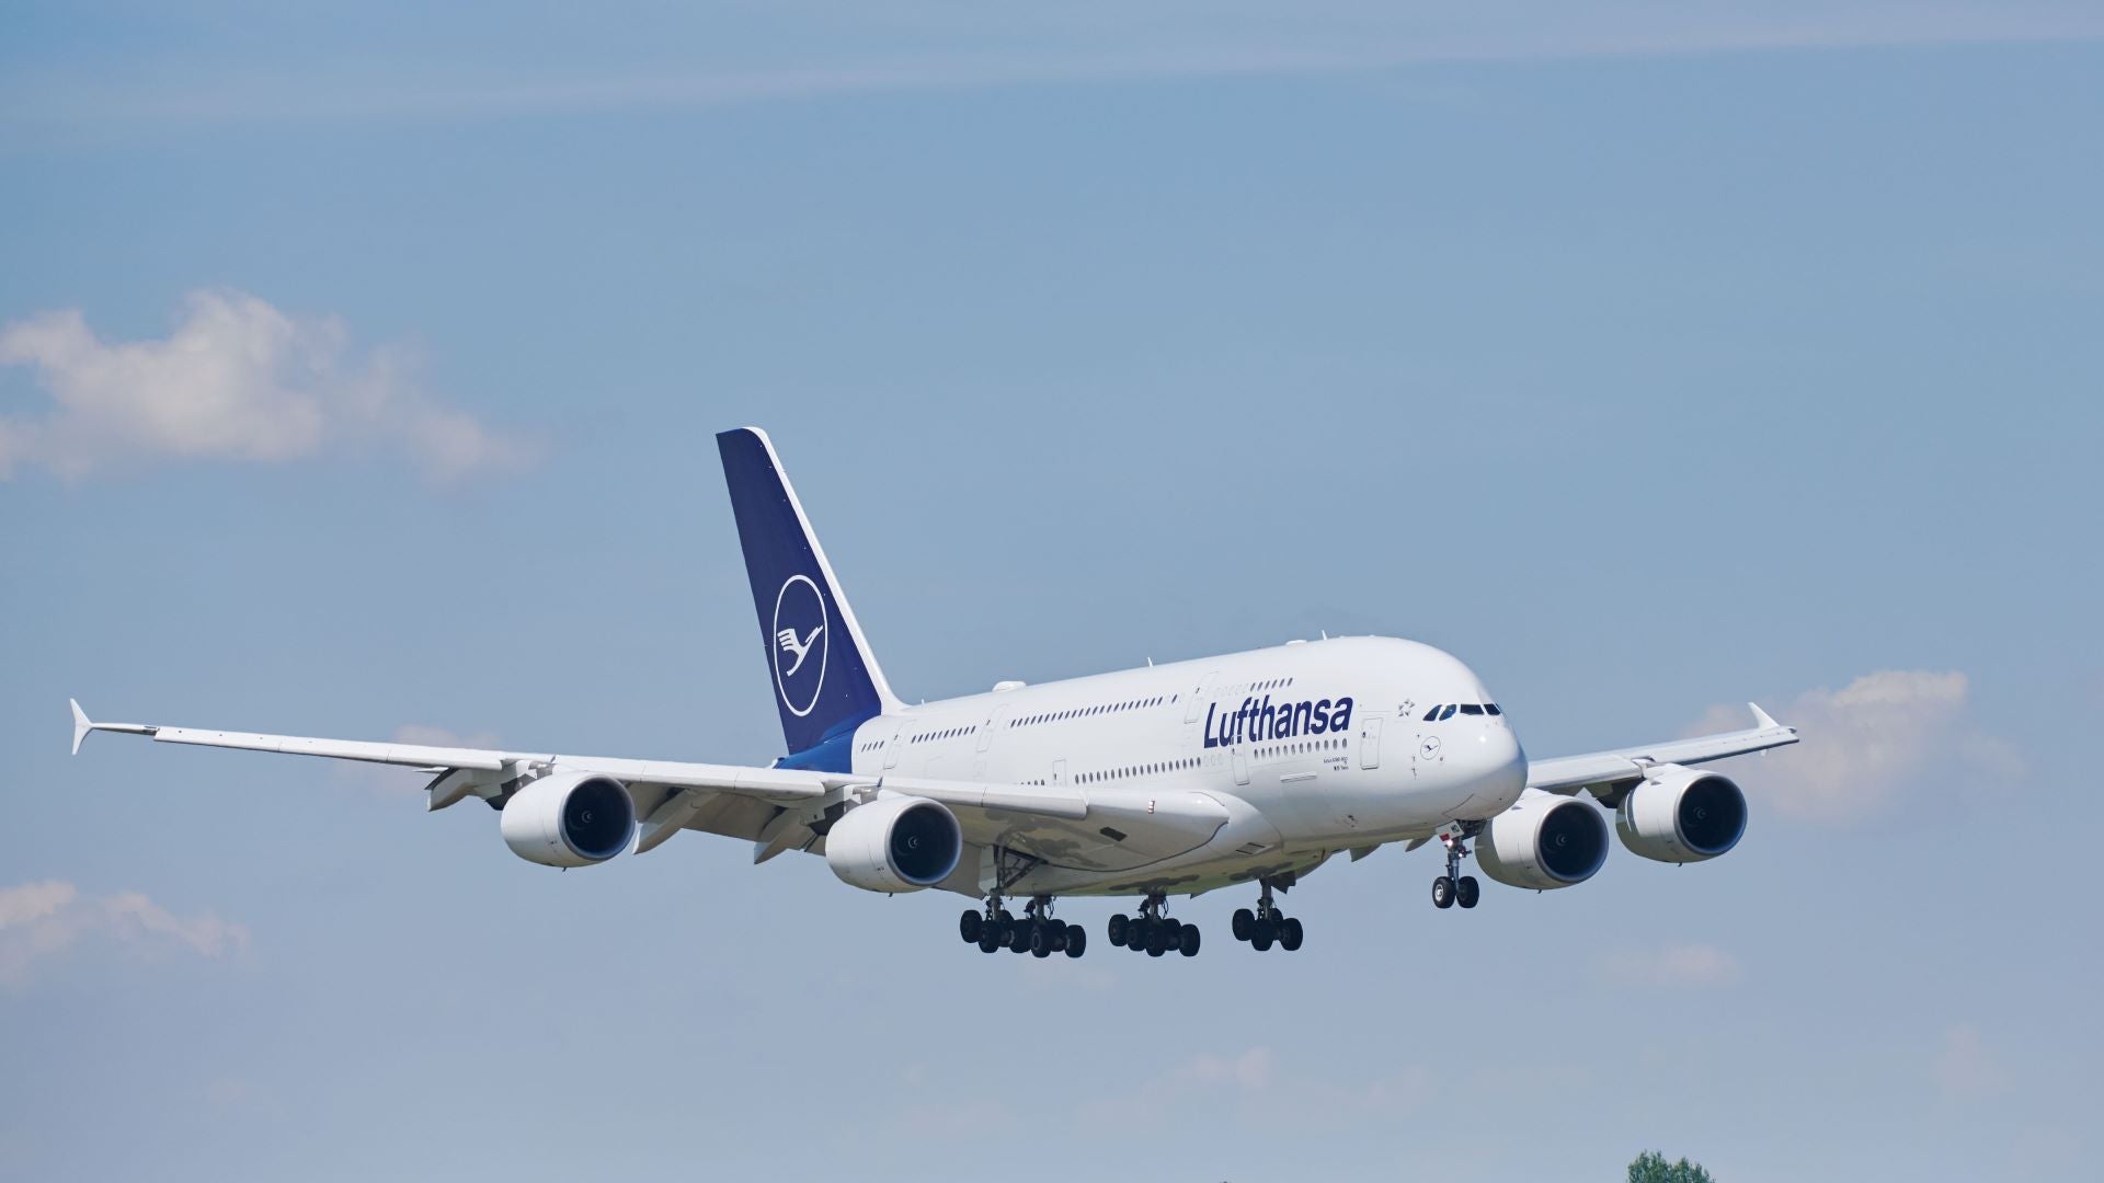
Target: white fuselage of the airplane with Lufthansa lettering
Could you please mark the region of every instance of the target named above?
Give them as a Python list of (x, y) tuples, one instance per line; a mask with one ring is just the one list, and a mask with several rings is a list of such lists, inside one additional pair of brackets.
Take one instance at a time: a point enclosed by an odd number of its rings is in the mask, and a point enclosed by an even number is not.
[[(1010, 886), (1187, 895), (1502, 813), (1525, 785), (1525, 756), (1494, 703), (1427, 644), (1292, 642), (884, 714), (856, 730), (854, 773), (1216, 796), (1231, 821), (1201, 846), (1132, 867), (1046, 859)], [(1424, 718), (1443, 705), (1473, 709)], [(993, 857), (968, 853), (945, 886), (983, 893)]]

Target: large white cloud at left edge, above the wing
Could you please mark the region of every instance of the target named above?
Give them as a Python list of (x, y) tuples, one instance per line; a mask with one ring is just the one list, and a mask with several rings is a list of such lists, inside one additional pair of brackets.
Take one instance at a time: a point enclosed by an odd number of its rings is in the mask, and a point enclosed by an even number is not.
[(400, 448), (450, 480), (528, 459), (522, 444), (425, 398), (402, 349), (351, 349), (337, 318), (196, 290), (162, 339), (101, 341), (78, 309), (0, 328), (0, 366), (27, 366), (50, 408), (0, 417), (0, 478), (67, 480), (137, 461), (284, 463), (335, 446)]

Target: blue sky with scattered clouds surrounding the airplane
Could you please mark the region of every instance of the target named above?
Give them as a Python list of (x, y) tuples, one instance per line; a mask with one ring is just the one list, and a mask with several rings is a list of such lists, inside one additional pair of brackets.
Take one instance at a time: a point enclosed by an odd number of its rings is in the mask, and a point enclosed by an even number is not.
[[(0, 1177), (2085, 1177), (2083, 4), (0, 17)], [(109, 718), (778, 754), (711, 434), (907, 697), (1414, 636), (1748, 838), (980, 958)], [(1222, 926), (1227, 895), (1176, 911)], [(1107, 903), (1073, 903), (1100, 924)], [(1052, 1149), (1044, 1149), (1052, 1147)]]

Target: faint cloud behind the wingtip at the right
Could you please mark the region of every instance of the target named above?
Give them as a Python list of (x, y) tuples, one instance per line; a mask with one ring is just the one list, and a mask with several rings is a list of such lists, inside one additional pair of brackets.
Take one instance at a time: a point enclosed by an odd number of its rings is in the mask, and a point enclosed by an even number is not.
[[(1885, 669), (1839, 690), (1805, 690), (1772, 714), (1801, 743), (1732, 764), (1759, 785), (1761, 802), (1805, 821), (1873, 817), (1927, 783), (1967, 791), (2005, 787), (2024, 775), (2014, 747), (1982, 730), (1959, 671)], [(1748, 726), (1744, 707), (1711, 707), (1690, 735)]]

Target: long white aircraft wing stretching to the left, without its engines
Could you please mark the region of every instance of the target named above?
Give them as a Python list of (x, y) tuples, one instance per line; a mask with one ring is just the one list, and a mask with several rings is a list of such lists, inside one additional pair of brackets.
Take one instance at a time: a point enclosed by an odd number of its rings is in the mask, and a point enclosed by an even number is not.
[[(1010, 846), (1063, 867), (1128, 869), (1206, 844), (1229, 810), (1206, 794), (1113, 789), (1092, 796), (1067, 785), (1002, 785), (928, 777), (757, 768), (749, 764), (690, 764), (616, 756), (562, 756), (490, 747), (438, 747), (375, 743), (305, 735), (259, 735), (194, 726), (95, 722), (72, 703), (74, 754), (95, 730), (143, 735), (156, 743), (278, 751), (391, 764), (431, 775), (429, 808), (440, 810), (469, 796), (501, 800), (507, 787), (551, 770), (591, 773), (627, 785), (640, 823), (638, 853), (652, 850), (680, 829), (705, 829), (755, 844), (766, 861), (816, 840), (810, 827), (821, 808), (848, 791), (890, 789), (938, 800), (957, 815), (968, 842)], [(494, 804), (494, 802), (492, 802)]]

